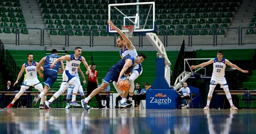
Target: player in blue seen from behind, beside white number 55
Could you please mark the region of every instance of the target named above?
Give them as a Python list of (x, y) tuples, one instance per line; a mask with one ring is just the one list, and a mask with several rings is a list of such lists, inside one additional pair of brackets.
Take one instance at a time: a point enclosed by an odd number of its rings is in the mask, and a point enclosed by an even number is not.
[[(47, 55), (46, 57), (43, 57), (40, 62), (38, 63), (38, 66), (36, 67), (37, 72), (39, 74), (40, 78), (44, 77), (44, 83), (45, 83), (45, 87), (44, 90), (38, 95), (36, 94), (34, 96), (34, 100), (32, 101), (32, 105), (34, 106), (37, 101), (40, 98), (45, 99), (45, 96), (47, 94), (47, 92), (51, 89), (51, 87), (53, 86), (54, 82), (57, 80), (57, 76), (58, 73), (62, 73), (64, 71), (64, 64), (62, 61), (59, 61), (55, 64), (55, 67), (53, 69), (50, 68), (50, 65), (56, 60), (60, 58), (58, 56), (58, 51), (56, 49), (53, 49), (51, 51), (51, 55)], [(40, 67), (44, 65), (44, 75), (42, 74), (42, 72), (40, 71)], [(59, 70), (59, 67), (61, 66), (61, 70)], [(43, 106), (44, 103), (40, 103), (39, 108), (40, 109), (44, 109)]]

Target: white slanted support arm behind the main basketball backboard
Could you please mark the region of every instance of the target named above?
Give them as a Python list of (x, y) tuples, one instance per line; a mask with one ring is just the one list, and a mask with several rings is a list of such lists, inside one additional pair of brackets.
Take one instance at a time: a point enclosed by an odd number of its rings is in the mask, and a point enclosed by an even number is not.
[(154, 46), (154, 48), (157, 50), (157, 57), (159, 58), (165, 58), (165, 79), (167, 83), (170, 86), (170, 66), (171, 62), (167, 57), (164, 44), (161, 42), (161, 40), (158, 38), (158, 36), (155, 33), (146, 33), (146, 37), (150, 41), (150, 43)]

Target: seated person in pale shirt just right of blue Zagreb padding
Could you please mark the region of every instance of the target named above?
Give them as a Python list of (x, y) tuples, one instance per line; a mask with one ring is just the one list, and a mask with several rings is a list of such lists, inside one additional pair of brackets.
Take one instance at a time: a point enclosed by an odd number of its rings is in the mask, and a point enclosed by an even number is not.
[(187, 87), (187, 83), (184, 82), (183, 83), (183, 87), (179, 90), (179, 91), (176, 91), (176, 92), (182, 92), (182, 94), (180, 94), (180, 96), (178, 96), (178, 101), (179, 101), (179, 105), (181, 104), (181, 108), (182, 109), (185, 109), (187, 108), (187, 101), (186, 101), (186, 105), (184, 105), (181, 101), (181, 99), (189, 99), (189, 93), (190, 93), (190, 89), (189, 87)]

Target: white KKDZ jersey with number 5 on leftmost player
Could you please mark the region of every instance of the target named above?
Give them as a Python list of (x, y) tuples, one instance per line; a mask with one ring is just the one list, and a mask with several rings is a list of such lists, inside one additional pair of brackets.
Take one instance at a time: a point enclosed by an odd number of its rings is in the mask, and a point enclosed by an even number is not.
[(25, 63), (26, 79), (33, 80), (37, 79), (37, 70), (35, 61), (32, 61), (32, 65), (28, 65), (28, 62)]

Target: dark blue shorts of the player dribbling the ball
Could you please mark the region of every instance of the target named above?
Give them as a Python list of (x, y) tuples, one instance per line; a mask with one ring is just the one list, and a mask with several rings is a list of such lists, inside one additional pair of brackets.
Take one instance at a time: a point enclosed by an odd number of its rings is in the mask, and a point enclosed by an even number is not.
[(115, 69), (114, 67), (111, 67), (103, 80), (103, 82), (107, 83), (108, 85), (112, 83), (113, 81), (117, 82), (120, 72)]

